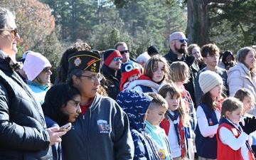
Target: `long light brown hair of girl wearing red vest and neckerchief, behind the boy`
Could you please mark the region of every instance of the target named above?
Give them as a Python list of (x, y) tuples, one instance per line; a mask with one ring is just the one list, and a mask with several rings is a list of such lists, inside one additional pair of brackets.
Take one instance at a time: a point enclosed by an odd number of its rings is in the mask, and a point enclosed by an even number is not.
[(176, 85), (174, 85), (174, 84), (171, 85), (170, 83), (167, 83), (166, 85), (161, 87), (161, 89), (159, 90), (158, 93), (159, 93), (159, 95), (161, 95), (164, 98), (166, 98), (167, 94), (169, 94), (171, 98), (177, 97), (179, 99), (179, 104), (178, 104), (177, 110), (181, 114), (181, 122), (182, 122), (183, 126), (187, 127), (188, 124), (190, 123), (189, 121), (190, 121), (191, 117), (186, 112), (186, 104), (182, 100), (181, 92), (178, 90), (178, 87), (176, 87)]

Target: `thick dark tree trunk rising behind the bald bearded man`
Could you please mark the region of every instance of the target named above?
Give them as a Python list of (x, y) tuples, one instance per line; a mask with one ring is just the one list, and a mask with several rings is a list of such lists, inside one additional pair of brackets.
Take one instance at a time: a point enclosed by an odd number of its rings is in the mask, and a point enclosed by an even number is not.
[(189, 43), (197, 43), (203, 46), (209, 43), (209, 18), (207, 14), (206, 0), (188, 0), (188, 26), (187, 37)]

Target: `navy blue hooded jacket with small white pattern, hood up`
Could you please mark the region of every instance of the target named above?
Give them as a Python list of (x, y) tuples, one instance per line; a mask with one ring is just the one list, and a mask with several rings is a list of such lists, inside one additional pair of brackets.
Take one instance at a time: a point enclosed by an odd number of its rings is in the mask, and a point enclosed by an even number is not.
[(117, 95), (117, 103), (129, 117), (134, 141), (134, 159), (160, 159), (152, 139), (145, 132), (144, 115), (153, 98), (136, 90), (123, 90)]

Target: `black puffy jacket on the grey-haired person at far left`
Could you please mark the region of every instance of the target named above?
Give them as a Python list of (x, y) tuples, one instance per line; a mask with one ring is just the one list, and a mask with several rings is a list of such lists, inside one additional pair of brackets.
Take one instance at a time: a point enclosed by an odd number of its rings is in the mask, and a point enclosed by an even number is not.
[(52, 159), (41, 105), (9, 61), (0, 59), (0, 159)]

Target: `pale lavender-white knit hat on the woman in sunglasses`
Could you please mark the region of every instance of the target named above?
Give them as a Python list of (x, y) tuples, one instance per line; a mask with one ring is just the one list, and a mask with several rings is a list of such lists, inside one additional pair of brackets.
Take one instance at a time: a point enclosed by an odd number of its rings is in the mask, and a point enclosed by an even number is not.
[(26, 55), (23, 70), (28, 76), (28, 80), (34, 80), (43, 71), (43, 68), (46, 67), (51, 67), (50, 62), (41, 53), (30, 51)]

